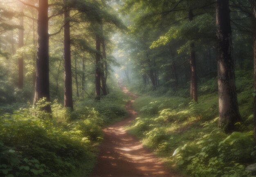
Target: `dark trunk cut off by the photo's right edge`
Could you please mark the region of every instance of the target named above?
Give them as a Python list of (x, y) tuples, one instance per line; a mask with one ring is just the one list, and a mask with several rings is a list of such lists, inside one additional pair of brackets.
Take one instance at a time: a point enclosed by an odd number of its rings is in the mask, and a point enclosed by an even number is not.
[[(254, 90), (256, 90), (256, 1), (252, 0)], [(254, 148), (256, 148), (256, 93), (254, 93)]]

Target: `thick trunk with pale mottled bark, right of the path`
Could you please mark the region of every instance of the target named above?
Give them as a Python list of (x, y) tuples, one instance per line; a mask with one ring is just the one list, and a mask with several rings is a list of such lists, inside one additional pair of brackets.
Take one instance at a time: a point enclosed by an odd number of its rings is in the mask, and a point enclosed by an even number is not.
[(217, 0), (217, 62), (219, 87), (219, 126), (226, 132), (234, 131), (236, 122), (241, 121), (238, 111), (234, 60), (232, 58), (232, 35), (229, 0)]

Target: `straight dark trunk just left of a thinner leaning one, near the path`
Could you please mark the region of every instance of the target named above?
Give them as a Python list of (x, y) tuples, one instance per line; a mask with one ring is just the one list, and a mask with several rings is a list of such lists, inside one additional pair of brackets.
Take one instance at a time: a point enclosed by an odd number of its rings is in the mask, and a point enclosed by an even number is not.
[(96, 62), (95, 62), (95, 90), (96, 90), (96, 100), (101, 99), (101, 40), (99, 36), (96, 36)]

